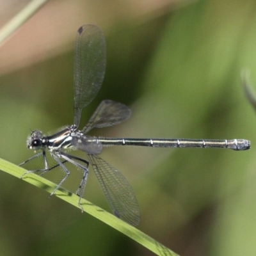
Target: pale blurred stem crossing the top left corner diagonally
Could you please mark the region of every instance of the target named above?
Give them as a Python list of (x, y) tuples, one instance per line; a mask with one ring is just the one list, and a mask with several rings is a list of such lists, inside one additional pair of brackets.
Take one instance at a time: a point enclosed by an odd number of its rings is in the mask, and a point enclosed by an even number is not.
[(0, 30), (0, 46), (49, 0), (33, 0)]

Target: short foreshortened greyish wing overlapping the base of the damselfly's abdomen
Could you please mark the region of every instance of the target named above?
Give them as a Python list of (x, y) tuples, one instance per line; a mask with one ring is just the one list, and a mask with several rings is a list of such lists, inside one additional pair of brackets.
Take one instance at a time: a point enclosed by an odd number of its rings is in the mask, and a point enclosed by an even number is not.
[(99, 143), (97, 138), (84, 136), (81, 133), (76, 134), (72, 137), (71, 144), (88, 154), (100, 154), (102, 152), (103, 145)]

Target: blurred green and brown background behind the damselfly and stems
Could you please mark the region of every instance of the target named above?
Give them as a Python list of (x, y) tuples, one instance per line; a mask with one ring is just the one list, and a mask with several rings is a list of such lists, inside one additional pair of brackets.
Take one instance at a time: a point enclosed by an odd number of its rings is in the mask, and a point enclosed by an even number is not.
[[(1, 26), (29, 1), (21, 2), (0, 3)], [(90, 134), (252, 141), (244, 152), (106, 148), (101, 157), (134, 188), (138, 228), (182, 256), (255, 255), (256, 116), (240, 77), (248, 68), (256, 84), (255, 14), (253, 0), (49, 1), (0, 48), (0, 157), (19, 164), (33, 155), (29, 129), (72, 124), (76, 30), (97, 24), (106, 77), (81, 125), (102, 99), (127, 104), (132, 116)], [(75, 191), (80, 176), (74, 170), (65, 188)], [(0, 187), (1, 255), (153, 255), (4, 172)], [(92, 170), (84, 197), (109, 211)]]

